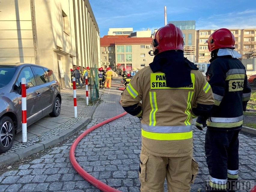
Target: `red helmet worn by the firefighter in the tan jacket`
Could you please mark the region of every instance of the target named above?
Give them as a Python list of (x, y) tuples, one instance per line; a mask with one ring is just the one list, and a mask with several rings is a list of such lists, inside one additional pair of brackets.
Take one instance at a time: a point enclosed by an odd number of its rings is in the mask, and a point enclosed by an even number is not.
[(183, 50), (184, 41), (181, 29), (169, 23), (157, 30), (152, 41), (154, 55), (167, 50)]

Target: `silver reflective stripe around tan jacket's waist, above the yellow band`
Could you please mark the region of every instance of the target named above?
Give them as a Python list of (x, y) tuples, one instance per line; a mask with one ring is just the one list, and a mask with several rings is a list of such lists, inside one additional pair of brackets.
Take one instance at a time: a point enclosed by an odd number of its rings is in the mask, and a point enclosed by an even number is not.
[(141, 124), (141, 127), (144, 131), (153, 132), (153, 133), (184, 133), (192, 130), (192, 125), (151, 126), (151, 125)]

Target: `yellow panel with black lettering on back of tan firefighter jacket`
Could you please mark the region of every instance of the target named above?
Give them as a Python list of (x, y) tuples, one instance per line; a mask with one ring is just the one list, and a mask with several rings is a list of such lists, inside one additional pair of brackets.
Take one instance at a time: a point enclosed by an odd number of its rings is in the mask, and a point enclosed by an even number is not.
[(164, 73), (151, 73), (150, 74), (150, 88), (151, 89), (194, 89), (195, 74), (191, 73), (192, 83), (184, 87), (167, 87), (166, 76)]

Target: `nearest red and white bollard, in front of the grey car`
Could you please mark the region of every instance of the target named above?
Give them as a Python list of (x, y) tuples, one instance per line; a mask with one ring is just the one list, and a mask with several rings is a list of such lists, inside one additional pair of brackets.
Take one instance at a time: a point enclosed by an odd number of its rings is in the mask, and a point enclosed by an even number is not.
[(26, 78), (21, 78), (22, 142), (27, 142)]

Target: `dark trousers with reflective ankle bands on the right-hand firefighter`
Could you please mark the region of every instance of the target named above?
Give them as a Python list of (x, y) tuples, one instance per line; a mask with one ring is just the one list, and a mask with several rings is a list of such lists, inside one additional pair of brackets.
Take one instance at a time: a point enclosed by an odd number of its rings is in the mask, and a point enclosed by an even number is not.
[[(224, 186), (221, 180), (227, 179), (227, 182), (229, 182), (227, 186), (230, 186), (230, 182), (235, 182), (237, 180), (239, 167), (239, 131), (240, 130), (206, 130), (205, 154), (206, 163), (208, 165), (209, 174), (211, 176), (209, 181), (211, 184), (209, 184), (208, 189), (221, 189), (221, 186)], [(230, 190), (229, 187), (228, 189)], [(223, 189), (218, 191), (227, 190)]]

